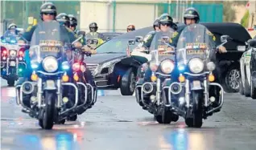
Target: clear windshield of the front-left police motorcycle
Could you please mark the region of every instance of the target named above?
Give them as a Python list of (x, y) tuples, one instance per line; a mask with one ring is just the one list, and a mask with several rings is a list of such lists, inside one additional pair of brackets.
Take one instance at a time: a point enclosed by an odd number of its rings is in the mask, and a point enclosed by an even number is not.
[(41, 22), (35, 28), (31, 38), (31, 61), (41, 62), (47, 56), (66, 59), (66, 50), (70, 50), (68, 31), (59, 22)]

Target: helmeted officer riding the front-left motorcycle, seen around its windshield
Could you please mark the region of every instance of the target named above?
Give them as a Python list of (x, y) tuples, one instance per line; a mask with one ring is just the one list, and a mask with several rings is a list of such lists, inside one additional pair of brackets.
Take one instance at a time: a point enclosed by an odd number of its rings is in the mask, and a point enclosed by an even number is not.
[[(56, 14), (57, 14), (56, 6), (52, 2), (45, 2), (40, 7), (40, 18), (42, 19), (43, 22), (51, 22), (52, 20), (56, 20)], [(21, 44), (25, 43), (23, 41), (23, 39), (26, 39), (28, 42), (30, 42), (36, 27), (37, 27), (37, 25), (28, 26), (27, 30), (23, 33), (23, 36), (22, 36), (23, 38), (19, 39), (18, 43), (21, 43)], [(67, 32), (70, 32), (70, 31), (67, 30)], [(72, 41), (76, 40), (76, 37), (74, 36), (74, 34), (69, 34), (69, 39), (72, 42)], [(79, 43), (79, 42), (75, 43), (74, 45), (75, 45), (75, 47), (82, 46), (81, 43)], [(26, 80), (29, 80), (30, 76), (32, 74), (28, 51), (26, 51), (26, 53), (25, 53), (25, 60), (27, 62), (27, 69), (26, 69), (26, 71), (24, 71), (25, 72), (24, 77), (20, 78), (16, 85), (21, 85)], [(26, 95), (24, 95), (24, 96), (26, 96)], [(24, 102), (24, 104), (27, 105), (27, 107), (30, 107), (29, 101)], [(28, 110), (25, 108), (23, 108), (23, 111), (28, 112)]]

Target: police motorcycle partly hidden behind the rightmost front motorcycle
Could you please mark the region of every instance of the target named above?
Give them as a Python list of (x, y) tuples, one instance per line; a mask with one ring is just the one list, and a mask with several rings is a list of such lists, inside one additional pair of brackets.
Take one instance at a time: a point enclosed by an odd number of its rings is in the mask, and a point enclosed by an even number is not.
[(159, 32), (151, 43), (151, 61), (149, 68), (151, 69), (151, 81), (138, 79), (136, 83), (136, 99), (143, 109), (154, 114), (155, 120), (159, 124), (170, 124), (171, 121), (176, 122), (179, 116), (173, 114), (163, 102), (163, 81), (171, 79), (172, 71), (175, 68), (175, 49), (167, 46), (167, 40), (173, 37), (173, 31)]

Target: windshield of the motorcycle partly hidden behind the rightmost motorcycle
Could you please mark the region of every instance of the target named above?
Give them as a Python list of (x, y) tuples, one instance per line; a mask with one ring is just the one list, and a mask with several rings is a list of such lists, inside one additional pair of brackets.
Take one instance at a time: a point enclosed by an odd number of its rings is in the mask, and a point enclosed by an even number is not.
[(169, 29), (166, 32), (156, 32), (154, 39), (152, 39), (150, 51), (152, 55), (152, 61), (157, 59), (161, 62), (163, 59), (174, 60), (174, 50), (170, 47), (171, 39), (173, 38), (174, 31)]

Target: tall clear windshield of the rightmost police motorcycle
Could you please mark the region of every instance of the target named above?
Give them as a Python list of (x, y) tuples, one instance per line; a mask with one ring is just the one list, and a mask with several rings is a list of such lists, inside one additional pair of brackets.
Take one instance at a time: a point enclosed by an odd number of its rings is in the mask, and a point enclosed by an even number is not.
[(176, 47), (177, 61), (179, 65), (186, 65), (190, 59), (200, 58), (207, 62), (215, 54), (213, 35), (200, 24), (186, 26)]

